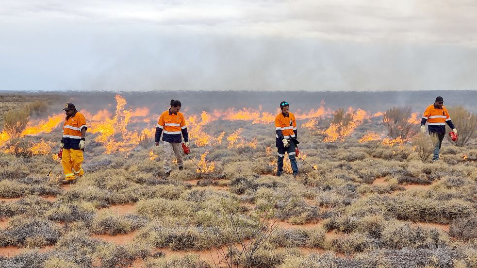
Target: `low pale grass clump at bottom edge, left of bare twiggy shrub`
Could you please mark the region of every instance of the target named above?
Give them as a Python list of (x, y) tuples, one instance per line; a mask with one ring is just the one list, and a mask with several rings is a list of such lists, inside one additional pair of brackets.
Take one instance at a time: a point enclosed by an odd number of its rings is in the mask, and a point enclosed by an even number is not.
[(198, 255), (186, 254), (183, 257), (169, 256), (149, 258), (146, 268), (212, 268), (207, 262), (199, 260)]

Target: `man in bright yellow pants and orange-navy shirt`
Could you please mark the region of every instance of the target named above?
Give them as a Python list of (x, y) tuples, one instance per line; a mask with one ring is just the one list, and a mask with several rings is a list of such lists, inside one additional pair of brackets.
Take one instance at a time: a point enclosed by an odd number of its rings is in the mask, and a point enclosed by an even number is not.
[(81, 167), (83, 162), (84, 137), (86, 135), (86, 119), (78, 112), (73, 103), (66, 103), (66, 118), (63, 124), (63, 138), (60, 147), (63, 148), (61, 164), (65, 179), (61, 183), (71, 183), (76, 177), (81, 177), (84, 170)]

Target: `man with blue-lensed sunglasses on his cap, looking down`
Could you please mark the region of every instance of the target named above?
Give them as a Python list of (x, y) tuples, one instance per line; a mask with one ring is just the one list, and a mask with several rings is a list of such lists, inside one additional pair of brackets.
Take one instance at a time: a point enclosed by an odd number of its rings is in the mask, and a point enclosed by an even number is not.
[(295, 116), (288, 111), (289, 104), (286, 101), (280, 102), (281, 113), (275, 117), (275, 137), (277, 146), (277, 176), (283, 174), (283, 158), (285, 152), (288, 153), (290, 164), (292, 166), (293, 175), (298, 175), (298, 164), (296, 163), (295, 148), (298, 144), (296, 139), (296, 119)]

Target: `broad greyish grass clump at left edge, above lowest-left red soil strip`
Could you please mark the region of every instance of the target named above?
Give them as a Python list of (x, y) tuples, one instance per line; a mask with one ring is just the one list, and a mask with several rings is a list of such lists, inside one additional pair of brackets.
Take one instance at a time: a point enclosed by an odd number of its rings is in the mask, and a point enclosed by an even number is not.
[(48, 220), (16, 216), (0, 233), (0, 246), (33, 246), (54, 245), (63, 234), (63, 230)]

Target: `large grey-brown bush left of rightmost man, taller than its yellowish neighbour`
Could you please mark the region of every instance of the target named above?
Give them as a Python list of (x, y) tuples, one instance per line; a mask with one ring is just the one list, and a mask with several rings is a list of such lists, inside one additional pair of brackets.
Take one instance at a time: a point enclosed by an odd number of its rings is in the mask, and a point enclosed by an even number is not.
[(400, 138), (406, 142), (417, 133), (416, 125), (409, 122), (411, 114), (411, 106), (393, 107), (384, 112), (382, 122), (388, 129), (388, 135), (391, 138)]

